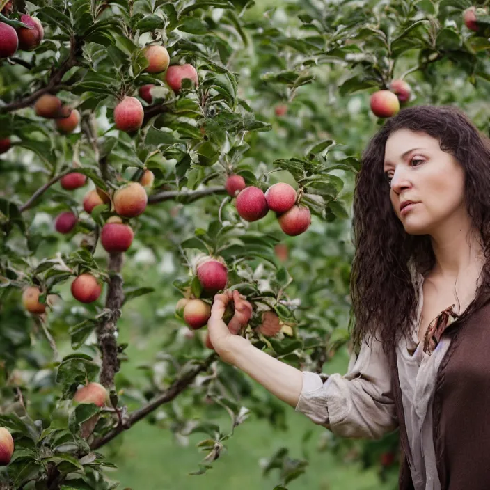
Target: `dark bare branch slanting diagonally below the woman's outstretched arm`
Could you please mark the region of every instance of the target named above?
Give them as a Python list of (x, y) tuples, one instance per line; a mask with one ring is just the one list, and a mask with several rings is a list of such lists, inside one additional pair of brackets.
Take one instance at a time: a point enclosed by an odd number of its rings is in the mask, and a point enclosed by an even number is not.
[(97, 450), (106, 443), (109, 443), (109, 441), (112, 441), (112, 439), (121, 432), (129, 429), (129, 427), (132, 427), (132, 425), (136, 424), (136, 422), (139, 422), (139, 420), (141, 420), (142, 418), (145, 418), (145, 416), (147, 416), (149, 413), (155, 411), (159, 406), (171, 402), (175, 397), (177, 397), (177, 395), (180, 395), (182, 391), (184, 391), (190, 384), (192, 384), (192, 382), (194, 381), (194, 379), (196, 379), (196, 376), (200, 372), (207, 370), (207, 368), (210, 367), (211, 363), (215, 359), (216, 353), (213, 352), (212, 354), (210, 354), (210, 356), (207, 356), (204, 361), (198, 363), (184, 374), (181, 374), (180, 377), (177, 377), (177, 379), (173, 381), (173, 384), (171, 384), (171, 386), (169, 386), (164, 391), (164, 393), (161, 393), (154, 400), (152, 400), (145, 406), (142, 406), (141, 409), (135, 410), (133, 413), (131, 413), (125, 425), (118, 425), (102, 438), (95, 439), (92, 445), (90, 445), (90, 449)]

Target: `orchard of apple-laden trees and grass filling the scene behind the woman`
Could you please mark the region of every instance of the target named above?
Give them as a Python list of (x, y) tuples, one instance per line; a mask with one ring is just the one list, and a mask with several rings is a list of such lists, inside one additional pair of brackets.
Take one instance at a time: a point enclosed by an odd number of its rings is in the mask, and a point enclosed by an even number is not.
[(0, 488), (397, 488), (396, 432), (313, 425), (202, 325), (224, 270), (255, 347), (346, 372), (361, 152), (400, 104), (489, 133), (487, 3), (0, 0)]

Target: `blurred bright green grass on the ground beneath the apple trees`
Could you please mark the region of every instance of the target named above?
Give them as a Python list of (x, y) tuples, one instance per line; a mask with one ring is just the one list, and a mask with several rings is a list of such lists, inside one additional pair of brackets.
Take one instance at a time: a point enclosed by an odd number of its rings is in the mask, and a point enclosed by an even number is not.
[[(223, 424), (228, 420), (220, 420)], [(281, 446), (290, 448), (290, 456), (301, 458), (301, 438), (311, 422), (301, 413), (290, 411), (287, 416), (290, 430), (277, 432), (262, 420), (249, 419), (235, 429), (228, 441), (228, 452), (214, 462), (205, 475), (188, 475), (198, 469), (203, 453), (195, 443), (202, 434), (196, 434), (187, 448), (177, 445), (170, 432), (155, 429), (146, 422), (124, 434), (124, 443), (113, 461), (118, 469), (109, 477), (120, 480), (121, 488), (134, 490), (193, 490), (202, 488), (233, 490), (271, 490), (278, 483), (277, 471), (262, 477), (260, 460), (270, 457)], [(288, 484), (290, 490), (380, 490), (374, 471), (363, 471), (358, 466), (339, 464), (328, 452), (316, 452), (315, 441), (325, 430), (317, 427), (308, 443), (310, 464), (306, 474)], [(384, 487), (386, 488), (386, 487)]]

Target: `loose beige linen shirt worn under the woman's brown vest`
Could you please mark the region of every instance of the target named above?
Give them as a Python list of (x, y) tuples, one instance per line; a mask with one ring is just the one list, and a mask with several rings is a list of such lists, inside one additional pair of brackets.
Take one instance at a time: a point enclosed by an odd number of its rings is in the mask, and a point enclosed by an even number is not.
[[(432, 438), (432, 401), (436, 372), (450, 340), (441, 337), (432, 354), (418, 341), (424, 278), (416, 274), (419, 288), (418, 315), (410, 338), (397, 347), (397, 365), (402, 388), (406, 432), (411, 458), (409, 466), (416, 490), (441, 490)], [(296, 411), (338, 436), (381, 438), (398, 426), (391, 390), (388, 358), (381, 342), (363, 342), (358, 356), (352, 354), (347, 374), (303, 372), (303, 388)]]

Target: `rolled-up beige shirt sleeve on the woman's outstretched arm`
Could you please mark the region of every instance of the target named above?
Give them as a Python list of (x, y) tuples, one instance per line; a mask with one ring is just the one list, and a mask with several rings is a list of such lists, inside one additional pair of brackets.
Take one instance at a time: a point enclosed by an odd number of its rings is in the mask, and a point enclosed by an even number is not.
[(377, 439), (396, 429), (390, 369), (381, 342), (364, 341), (343, 376), (303, 371), (295, 410), (343, 437)]

